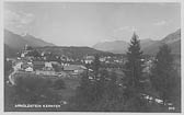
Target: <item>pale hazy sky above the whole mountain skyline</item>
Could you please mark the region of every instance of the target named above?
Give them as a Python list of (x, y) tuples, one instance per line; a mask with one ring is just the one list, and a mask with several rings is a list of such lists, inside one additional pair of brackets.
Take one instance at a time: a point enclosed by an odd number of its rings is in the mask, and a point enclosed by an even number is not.
[(4, 2), (4, 28), (58, 46), (161, 39), (181, 27), (180, 3)]

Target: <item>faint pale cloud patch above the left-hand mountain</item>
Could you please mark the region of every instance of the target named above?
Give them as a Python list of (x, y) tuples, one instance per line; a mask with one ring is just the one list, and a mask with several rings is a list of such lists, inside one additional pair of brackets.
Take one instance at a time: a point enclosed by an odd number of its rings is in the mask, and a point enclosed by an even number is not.
[(35, 16), (32, 13), (14, 12), (4, 10), (4, 25), (13, 27), (25, 27), (33, 22)]

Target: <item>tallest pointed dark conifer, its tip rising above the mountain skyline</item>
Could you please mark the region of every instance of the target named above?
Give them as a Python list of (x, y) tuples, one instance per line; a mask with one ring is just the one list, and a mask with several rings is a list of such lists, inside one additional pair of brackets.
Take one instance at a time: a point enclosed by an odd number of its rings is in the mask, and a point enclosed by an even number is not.
[(134, 91), (139, 90), (139, 80), (142, 76), (142, 51), (140, 50), (140, 41), (134, 33), (130, 45), (127, 51), (127, 62), (125, 64), (125, 74), (127, 80), (127, 88), (133, 88)]

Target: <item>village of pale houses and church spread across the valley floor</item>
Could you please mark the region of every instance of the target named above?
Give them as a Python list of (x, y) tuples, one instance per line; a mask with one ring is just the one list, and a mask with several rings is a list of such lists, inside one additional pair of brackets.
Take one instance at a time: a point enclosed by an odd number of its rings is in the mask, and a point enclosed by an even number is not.
[[(11, 82), (11, 84), (15, 84), (13, 79), (14, 74), (30, 74), (33, 77), (44, 76), (49, 78), (77, 78), (85, 70), (89, 70), (91, 72), (93, 71), (92, 68), (87, 68), (87, 65), (91, 65), (93, 62), (94, 56), (87, 55), (82, 59), (74, 60), (62, 55), (55, 56), (54, 59), (50, 59), (49, 54), (50, 53), (43, 51), (39, 55), (39, 53), (33, 49), (31, 46), (25, 45), (25, 47), (23, 47), (23, 49), (21, 50), (20, 57), (7, 58), (7, 61), (12, 62), (13, 68), (13, 72), (9, 76), (9, 81)], [(146, 59), (142, 59), (142, 61), (145, 60)], [(150, 72), (152, 60), (147, 59), (147, 61), (145, 61), (145, 73)], [(107, 70), (113, 69), (117, 72), (122, 72), (123, 65), (126, 62), (126, 58), (104, 56), (100, 57), (100, 61)], [(123, 72), (120, 73), (120, 76), (122, 74)]]

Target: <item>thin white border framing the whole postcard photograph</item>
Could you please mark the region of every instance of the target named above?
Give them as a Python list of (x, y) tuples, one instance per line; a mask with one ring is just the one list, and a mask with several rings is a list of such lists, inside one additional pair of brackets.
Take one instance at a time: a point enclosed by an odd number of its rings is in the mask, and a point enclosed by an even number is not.
[[(1, 95), (0, 95), (0, 101), (1, 101), (1, 104), (0, 104), (0, 114), (8, 114), (8, 115), (12, 115), (12, 114), (16, 114), (16, 115), (20, 115), (20, 114), (47, 114), (47, 115), (50, 115), (50, 114), (66, 114), (66, 115), (70, 115), (70, 114), (77, 114), (77, 115), (80, 115), (80, 114), (105, 114), (105, 115), (108, 115), (108, 114), (133, 114), (133, 115), (141, 115), (141, 114), (149, 114), (149, 115), (160, 115), (160, 114), (165, 114), (165, 113), (96, 113), (96, 112), (3, 112), (3, 2), (4, 1), (26, 1), (26, 2), (181, 2), (181, 32), (182, 32), (182, 36), (181, 36), (181, 39), (182, 39), (182, 54), (181, 54), (181, 59), (182, 59), (182, 65), (181, 65), (181, 68), (182, 68), (182, 113), (184, 112), (184, 93), (183, 93), (183, 88), (184, 88), (184, 71), (183, 71), (183, 65), (184, 65), (184, 59), (182, 58), (183, 57), (183, 49), (184, 49), (184, 46), (183, 46), (183, 36), (184, 36), (184, 0), (0, 0), (0, 89), (1, 89)], [(166, 113), (166, 114), (179, 114), (179, 113)]]

